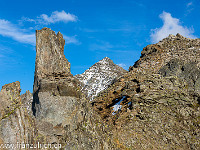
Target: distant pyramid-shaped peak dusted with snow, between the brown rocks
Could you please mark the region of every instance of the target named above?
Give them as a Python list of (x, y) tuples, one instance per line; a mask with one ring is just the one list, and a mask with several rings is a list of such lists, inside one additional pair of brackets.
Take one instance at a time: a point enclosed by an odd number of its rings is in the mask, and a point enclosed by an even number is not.
[(75, 77), (82, 83), (82, 91), (86, 93), (90, 100), (105, 89), (114, 81), (115, 78), (127, 73), (122, 67), (114, 64), (113, 61), (105, 57), (95, 63), (83, 74)]

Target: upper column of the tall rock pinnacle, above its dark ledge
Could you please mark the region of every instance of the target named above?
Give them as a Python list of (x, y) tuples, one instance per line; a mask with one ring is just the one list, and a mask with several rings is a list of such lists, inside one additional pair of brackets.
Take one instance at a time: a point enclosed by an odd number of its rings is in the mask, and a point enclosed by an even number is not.
[(49, 28), (36, 30), (36, 61), (34, 92), (42, 79), (54, 80), (70, 73), (70, 63), (64, 56), (65, 40), (60, 32)]

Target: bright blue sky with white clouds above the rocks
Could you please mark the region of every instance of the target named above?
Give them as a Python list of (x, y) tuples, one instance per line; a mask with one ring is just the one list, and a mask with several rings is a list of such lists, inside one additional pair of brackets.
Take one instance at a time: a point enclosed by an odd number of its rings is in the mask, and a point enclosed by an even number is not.
[(199, 0), (2, 0), (0, 86), (21, 82), (32, 92), (35, 30), (49, 27), (66, 40), (72, 74), (104, 57), (128, 69), (148, 44), (177, 32), (200, 36)]

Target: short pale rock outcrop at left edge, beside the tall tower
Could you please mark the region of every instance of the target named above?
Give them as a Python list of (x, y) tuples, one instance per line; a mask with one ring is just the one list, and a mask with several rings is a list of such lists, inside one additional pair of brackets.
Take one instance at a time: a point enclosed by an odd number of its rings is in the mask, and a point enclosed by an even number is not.
[(35, 120), (24, 109), (20, 91), (17, 81), (4, 85), (0, 92), (0, 144), (9, 144), (0, 149), (18, 150), (20, 144), (39, 142)]

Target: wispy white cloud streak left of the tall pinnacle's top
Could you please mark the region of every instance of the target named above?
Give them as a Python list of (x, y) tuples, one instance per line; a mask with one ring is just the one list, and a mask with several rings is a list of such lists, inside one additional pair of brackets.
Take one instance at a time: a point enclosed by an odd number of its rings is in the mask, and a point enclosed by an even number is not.
[(21, 43), (35, 45), (35, 33), (28, 33), (4, 19), (0, 19), (0, 35), (10, 37)]

